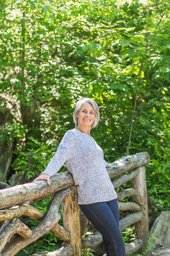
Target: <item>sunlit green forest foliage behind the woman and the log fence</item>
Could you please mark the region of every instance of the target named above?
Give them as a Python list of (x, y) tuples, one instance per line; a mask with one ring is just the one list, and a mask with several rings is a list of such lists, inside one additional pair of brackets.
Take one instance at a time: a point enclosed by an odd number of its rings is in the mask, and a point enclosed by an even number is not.
[[(44, 171), (75, 128), (76, 101), (88, 97), (99, 106), (91, 134), (105, 160), (148, 152), (148, 195), (157, 214), (170, 209), (169, 17), (164, 0), (1, 1), (2, 161), (12, 145), (1, 180), (22, 184)], [(45, 212), (48, 202), (35, 205)], [(54, 250), (58, 242), (48, 232), (18, 255)]]

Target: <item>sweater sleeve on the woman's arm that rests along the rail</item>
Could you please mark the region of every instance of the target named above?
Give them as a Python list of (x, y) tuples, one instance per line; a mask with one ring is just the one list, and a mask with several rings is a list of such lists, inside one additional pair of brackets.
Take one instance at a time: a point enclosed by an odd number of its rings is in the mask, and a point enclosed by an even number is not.
[(57, 151), (53, 158), (48, 163), (46, 169), (42, 174), (48, 174), (50, 177), (59, 171), (59, 169), (63, 166), (66, 160), (69, 157), (71, 141), (73, 139), (73, 133), (68, 130), (63, 136), (62, 141), (57, 147)]

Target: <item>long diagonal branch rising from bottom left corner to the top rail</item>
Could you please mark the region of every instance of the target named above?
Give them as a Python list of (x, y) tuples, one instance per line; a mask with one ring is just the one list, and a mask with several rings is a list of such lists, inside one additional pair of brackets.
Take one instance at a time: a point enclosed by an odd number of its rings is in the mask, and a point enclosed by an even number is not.
[(25, 246), (36, 241), (39, 237), (46, 234), (52, 227), (59, 221), (60, 215), (58, 209), (63, 197), (69, 195), (70, 189), (64, 189), (56, 192), (48, 205), (43, 221), (34, 229), (32, 229), (32, 235), (29, 238), (19, 237), (12, 241), (2, 250), (2, 256), (13, 256)]

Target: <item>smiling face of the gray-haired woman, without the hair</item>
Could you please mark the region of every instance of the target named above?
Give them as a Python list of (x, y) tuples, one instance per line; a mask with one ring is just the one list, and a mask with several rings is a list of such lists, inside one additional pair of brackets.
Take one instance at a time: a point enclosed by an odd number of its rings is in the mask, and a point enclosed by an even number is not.
[(83, 103), (78, 115), (78, 125), (89, 126), (94, 122), (95, 113), (93, 106), (90, 103)]

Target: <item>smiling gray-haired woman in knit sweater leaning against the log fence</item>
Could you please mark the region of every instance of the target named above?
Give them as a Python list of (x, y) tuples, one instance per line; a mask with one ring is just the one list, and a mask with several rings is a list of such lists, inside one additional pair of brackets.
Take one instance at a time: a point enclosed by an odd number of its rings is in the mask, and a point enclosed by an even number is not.
[(75, 128), (65, 133), (56, 154), (34, 181), (46, 180), (50, 186), (50, 176), (65, 163), (77, 186), (78, 204), (101, 233), (107, 256), (125, 256), (117, 195), (106, 170), (112, 165), (104, 160), (101, 147), (90, 135), (99, 122), (97, 103), (89, 98), (77, 101), (73, 120)]

